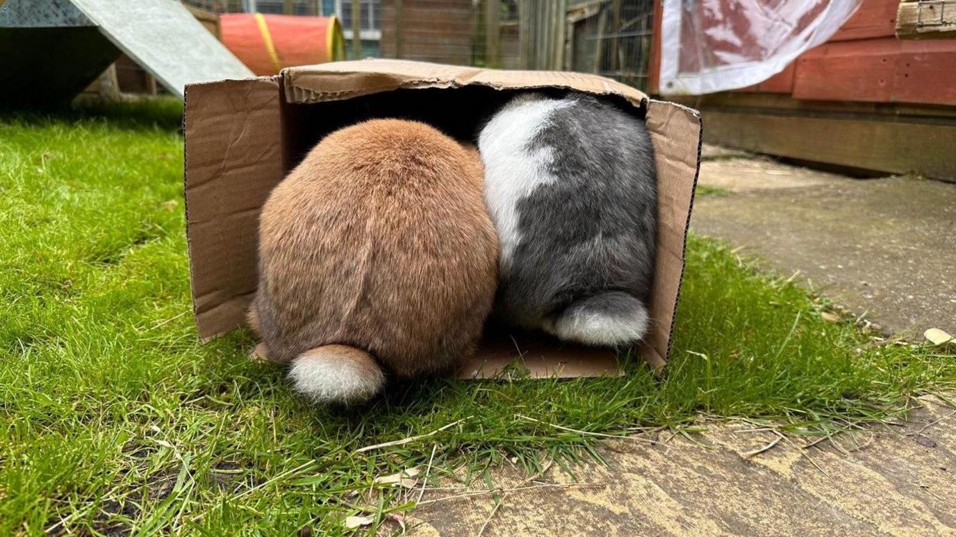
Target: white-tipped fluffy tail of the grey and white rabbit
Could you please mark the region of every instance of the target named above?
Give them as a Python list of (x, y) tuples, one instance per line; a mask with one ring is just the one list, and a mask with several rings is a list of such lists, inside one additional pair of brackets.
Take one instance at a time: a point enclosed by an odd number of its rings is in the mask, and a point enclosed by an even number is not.
[(548, 332), (585, 345), (631, 345), (647, 333), (650, 317), (636, 297), (609, 291), (578, 300), (557, 314)]

